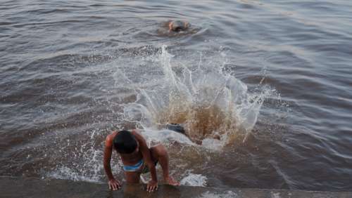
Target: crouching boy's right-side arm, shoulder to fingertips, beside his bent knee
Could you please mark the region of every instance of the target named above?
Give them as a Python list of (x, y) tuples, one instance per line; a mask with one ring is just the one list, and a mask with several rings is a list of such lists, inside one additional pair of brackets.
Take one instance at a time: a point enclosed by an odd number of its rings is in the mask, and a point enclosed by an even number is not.
[(139, 149), (142, 152), (146, 166), (148, 166), (149, 171), (151, 172), (151, 181), (149, 181), (149, 184), (147, 186), (147, 190), (151, 192), (153, 190), (156, 190), (158, 186), (158, 178), (156, 177), (155, 164), (151, 160), (151, 153), (149, 151), (148, 145), (146, 145), (146, 140), (141, 134), (137, 133), (137, 131), (133, 131), (133, 134), (139, 142)]

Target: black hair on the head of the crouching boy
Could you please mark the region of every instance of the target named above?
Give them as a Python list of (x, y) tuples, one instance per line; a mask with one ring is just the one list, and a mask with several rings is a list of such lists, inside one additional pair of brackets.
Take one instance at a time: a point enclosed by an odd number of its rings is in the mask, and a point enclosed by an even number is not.
[(123, 154), (130, 154), (137, 148), (137, 140), (130, 131), (119, 131), (113, 138), (115, 150)]

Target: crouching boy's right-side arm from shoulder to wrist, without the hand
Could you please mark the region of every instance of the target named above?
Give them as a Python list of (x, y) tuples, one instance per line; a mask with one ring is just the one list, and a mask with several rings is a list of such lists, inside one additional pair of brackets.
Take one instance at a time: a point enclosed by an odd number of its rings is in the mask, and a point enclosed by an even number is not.
[(142, 152), (143, 160), (145, 161), (146, 166), (148, 166), (149, 171), (151, 171), (151, 180), (157, 182), (158, 178), (156, 177), (155, 164), (151, 160), (151, 152), (149, 151), (148, 145), (146, 145), (146, 140), (137, 131), (133, 131), (133, 134), (134, 134), (134, 137), (136, 137), (139, 142), (139, 149)]

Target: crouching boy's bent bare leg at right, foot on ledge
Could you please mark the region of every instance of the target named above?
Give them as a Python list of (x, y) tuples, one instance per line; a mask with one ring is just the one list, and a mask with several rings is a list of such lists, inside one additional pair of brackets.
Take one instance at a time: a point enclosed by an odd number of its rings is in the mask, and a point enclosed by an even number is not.
[(163, 145), (156, 145), (150, 148), (151, 159), (158, 161), (163, 169), (163, 178), (170, 185), (179, 185), (172, 177), (169, 176), (169, 157), (166, 148)]

